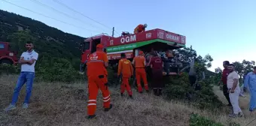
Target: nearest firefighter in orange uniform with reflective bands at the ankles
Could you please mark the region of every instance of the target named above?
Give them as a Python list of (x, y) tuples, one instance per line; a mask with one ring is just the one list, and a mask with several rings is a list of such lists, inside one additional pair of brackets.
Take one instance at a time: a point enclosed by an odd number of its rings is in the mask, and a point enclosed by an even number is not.
[(94, 118), (96, 111), (96, 98), (99, 89), (102, 91), (103, 107), (105, 112), (112, 108), (110, 104), (110, 92), (108, 91), (108, 56), (102, 51), (102, 44), (96, 46), (96, 52), (89, 55), (87, 62), (89, 101), (87, 104), (87, 118)]

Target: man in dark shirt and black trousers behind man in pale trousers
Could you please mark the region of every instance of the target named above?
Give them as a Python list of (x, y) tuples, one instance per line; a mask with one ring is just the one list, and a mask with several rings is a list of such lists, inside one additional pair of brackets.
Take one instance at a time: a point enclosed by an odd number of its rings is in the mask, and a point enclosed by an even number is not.
[(225, 98), (228, 101), (227, 106), (231, 106), (230, 96), (229, 96), (229, 92), (228, 92), (228, 89), (227, 89), (227, 75), (230, 73), (230, 71), (227, 69), (228, 65), (230, 65), (230, 62), (228, 62), (228, 61), (223, 62), (224, 70), (222, 71), (222, 77), (221, 77), (221, 81), (219, 82), (219, 84), (221, 82), (223, 83), (223, 94), (224, 94)]

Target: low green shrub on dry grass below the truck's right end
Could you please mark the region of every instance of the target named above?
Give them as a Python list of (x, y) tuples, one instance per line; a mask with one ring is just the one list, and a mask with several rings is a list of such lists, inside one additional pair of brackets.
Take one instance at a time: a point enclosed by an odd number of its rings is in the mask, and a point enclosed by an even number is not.
[(187, 93), (190, 92), (190, 94), (192, 94), (192, 98), (190, 98), (192, 102), (190, 102), (190, 104), (195, 107), (200, 109), (209, 108), (211, 110), (221, 108), (223, 104), (212, 91), (212, 86), (203, 81), (199, 81), (198, 83), (200, 83), (202, 89), (194, 91), (194, 89), (190, 87), (187, 74), (182, 74), (181, 77), (169, 77), (169, 79), (166, 80), (164, 93), (169, 100), (175, 99), (181, 101), (185, 100)]

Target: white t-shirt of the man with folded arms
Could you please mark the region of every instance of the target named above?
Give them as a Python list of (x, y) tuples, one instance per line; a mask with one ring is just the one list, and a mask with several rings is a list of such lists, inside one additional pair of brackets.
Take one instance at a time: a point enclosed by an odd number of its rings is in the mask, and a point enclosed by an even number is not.
[[(38, 52), (35, 52), (34, 50), (32, 52), (23, 52), (20, 58), (24, 58), (24, 60), (35, 59), (35, 62), (36, 62), (36, 60), (38, 60)], [(35, 62), (32, 65), (28, 65), (28, 64), (21, 65), (21, 71), (35, 72)]]

